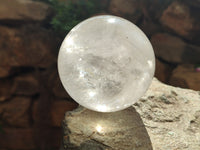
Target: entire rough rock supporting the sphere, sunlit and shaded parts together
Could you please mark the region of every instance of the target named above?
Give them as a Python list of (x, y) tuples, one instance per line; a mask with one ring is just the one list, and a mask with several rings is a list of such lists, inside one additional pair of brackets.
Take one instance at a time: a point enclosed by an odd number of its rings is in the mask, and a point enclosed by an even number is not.
[(66, 113), (63, 127), (67, 150), (197, 150), (200, 93), (154, 79), (133, 107), (114, 113), (81, 107)]

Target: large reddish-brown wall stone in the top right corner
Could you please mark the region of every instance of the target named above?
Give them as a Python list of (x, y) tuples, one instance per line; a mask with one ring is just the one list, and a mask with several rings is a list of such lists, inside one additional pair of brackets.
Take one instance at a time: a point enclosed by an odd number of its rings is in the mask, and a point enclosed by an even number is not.
[(160, 20), (164, 26), (178, 35), (199, 42), (199, 17), (200, 9), (198, 7), (190, 7), (183, 1), (173, 1), (163, 12)]

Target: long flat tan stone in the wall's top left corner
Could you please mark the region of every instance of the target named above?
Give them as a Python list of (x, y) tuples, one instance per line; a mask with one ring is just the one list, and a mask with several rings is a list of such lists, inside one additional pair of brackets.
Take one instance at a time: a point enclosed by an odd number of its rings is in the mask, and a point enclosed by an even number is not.
[(2, 21), (43, 21), (51, 14), (48, 5), (31, 0), (0, 0)]

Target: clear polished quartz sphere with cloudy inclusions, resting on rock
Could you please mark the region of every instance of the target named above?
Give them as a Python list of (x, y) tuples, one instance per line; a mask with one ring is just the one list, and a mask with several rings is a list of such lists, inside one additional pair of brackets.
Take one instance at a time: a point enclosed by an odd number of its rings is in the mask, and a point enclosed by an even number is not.
[(58, 72), (80, 105), (114, 112), (134, 104), (151, 84), (155, 56), (145, 34), (120, 17), (102, 15), (75, 26), (65, 37)]

